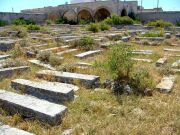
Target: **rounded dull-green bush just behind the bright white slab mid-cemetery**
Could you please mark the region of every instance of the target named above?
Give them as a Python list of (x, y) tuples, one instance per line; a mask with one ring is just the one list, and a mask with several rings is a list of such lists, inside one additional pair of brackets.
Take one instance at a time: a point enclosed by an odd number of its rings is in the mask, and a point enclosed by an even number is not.
[(82, 37), (81, 39), (74, 42), (74, 47), (78, 47), (82, 50), (93, 49), (94, 39), (92, 37)]

